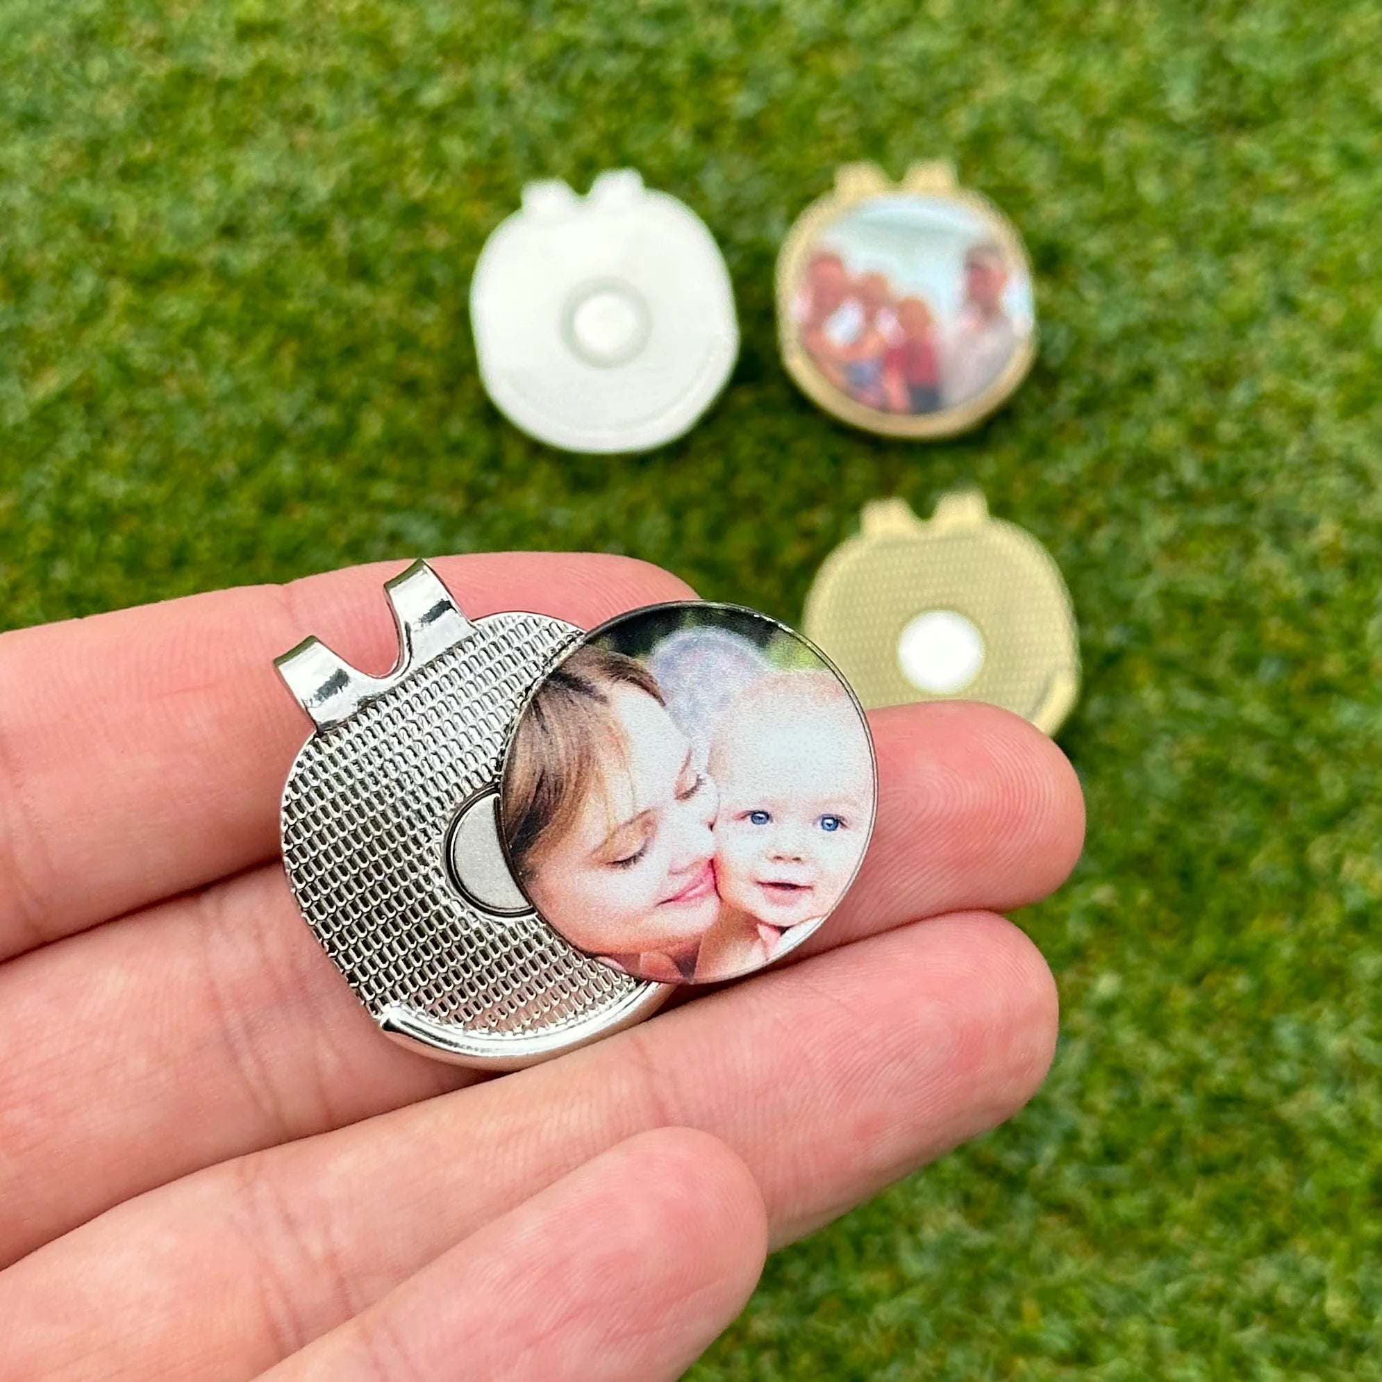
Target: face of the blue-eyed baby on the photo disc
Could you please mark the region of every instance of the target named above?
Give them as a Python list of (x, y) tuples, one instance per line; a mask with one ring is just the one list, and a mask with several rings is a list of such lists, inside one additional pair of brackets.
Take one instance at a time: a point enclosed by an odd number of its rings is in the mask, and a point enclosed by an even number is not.
[(710, 777), (720, 897), (778, 927), (831, 911), (869, 828), (872, 763), (853, 706), (753, 708), (717, 737)]

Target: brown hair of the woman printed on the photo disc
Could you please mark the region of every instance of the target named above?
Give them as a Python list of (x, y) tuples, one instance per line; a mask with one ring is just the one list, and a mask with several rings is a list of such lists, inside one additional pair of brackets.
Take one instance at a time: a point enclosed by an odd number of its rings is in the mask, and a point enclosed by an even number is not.
[(603, 778), (609, 741), (618, 732), (609, 705), (609, 691), (618, 685), (666, 703), (643, 663), (587, 645), (547, 674), (518, 721), (500, 804), (520, 879), (531, 878), (542, 849), (575, 825), (591, 786)]

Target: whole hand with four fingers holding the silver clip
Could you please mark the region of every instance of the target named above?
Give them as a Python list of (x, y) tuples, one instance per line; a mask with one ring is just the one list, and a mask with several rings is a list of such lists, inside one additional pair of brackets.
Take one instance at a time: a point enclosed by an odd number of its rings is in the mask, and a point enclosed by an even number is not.
[[(310, 727), (272, 659), (387, 666), (395, 569), (0, 636), (6, 1382), (676, 1376), (766, 1245), (1046, 1071), (1054, 988), (992, 909), (1066, 876), (1079, 791), (965, 703), (871, 717), (869, 854), (782, 967), (499, 1078), (383, 1038), (275, 857)], [(615, 557), (437, 569), (471, 615), (687, 596)]]

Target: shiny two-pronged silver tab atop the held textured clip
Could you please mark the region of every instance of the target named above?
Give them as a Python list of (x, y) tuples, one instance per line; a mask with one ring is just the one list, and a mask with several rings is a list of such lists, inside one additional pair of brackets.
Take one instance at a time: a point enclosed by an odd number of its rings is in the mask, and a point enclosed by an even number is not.
[(451, 591), (426, 561), (415, 561), (384, 586), (398, 629), (398, 661), (384, 677), (352, 668), (321, 638), (304, 638), (274, 666), (319, 730), (348, 720), (366, 701), (456, 647), (474, 632)]

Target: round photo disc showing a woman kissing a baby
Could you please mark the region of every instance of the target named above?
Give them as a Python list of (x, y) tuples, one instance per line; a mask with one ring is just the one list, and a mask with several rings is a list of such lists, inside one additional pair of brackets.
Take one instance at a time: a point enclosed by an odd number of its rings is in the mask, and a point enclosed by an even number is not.
[(499, 833), (536, 915), (634, 978), (738, 978), (802, 944), (858, 872), (868, 721), (799, 633), (679, 601), (579, 638), (520, 710)]

